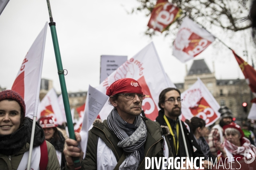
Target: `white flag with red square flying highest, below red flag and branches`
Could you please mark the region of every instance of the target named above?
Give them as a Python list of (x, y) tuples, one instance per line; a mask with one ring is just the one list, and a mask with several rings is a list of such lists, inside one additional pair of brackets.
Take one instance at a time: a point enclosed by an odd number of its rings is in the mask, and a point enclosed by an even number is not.
[(204, 51), (214, 40), (211, 33), (185, 17), (173, 42), (172, 55), (186, 62)]

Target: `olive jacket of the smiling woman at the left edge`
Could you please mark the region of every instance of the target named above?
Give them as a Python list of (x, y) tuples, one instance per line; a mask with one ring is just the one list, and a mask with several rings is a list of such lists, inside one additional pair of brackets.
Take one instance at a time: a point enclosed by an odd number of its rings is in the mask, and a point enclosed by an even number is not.
[[(60, 170), (61, 167), (54, 147), (48, 141), (46, 144), (48, 150), (47, 170)], [(24, 153), (27, 151), (29, 151), (29, 143), (26, 143), (15, 155), (6, 156), (0, 153), (0, 170), (17, 170)]]

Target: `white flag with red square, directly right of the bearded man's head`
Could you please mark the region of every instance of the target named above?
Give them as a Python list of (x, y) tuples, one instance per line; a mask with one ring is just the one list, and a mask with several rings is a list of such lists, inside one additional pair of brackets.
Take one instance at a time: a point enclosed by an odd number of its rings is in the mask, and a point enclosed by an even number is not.
[(183, 99), (180, 116), (182, 121), (197, 116), (204, 119), (206, 126), (209, 126), (220, 117), (218, 112), (220, 106), (201, 79), (198, 78), (180, 97)]

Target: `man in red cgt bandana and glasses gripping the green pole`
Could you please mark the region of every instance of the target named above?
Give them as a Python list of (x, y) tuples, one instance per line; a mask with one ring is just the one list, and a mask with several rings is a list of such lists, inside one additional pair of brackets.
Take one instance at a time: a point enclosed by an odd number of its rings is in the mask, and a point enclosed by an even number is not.
[[(139, 82), (130, 78), (119, 79), (113, 82), (106, 94), (113, 110), (107, 120), (93, 123), (81, 170), (144, 170), (145, 157), (159, 160), (173, 156), (164, 136), (167, 135), (166, 128), (162, 129), (157, 122), (140, 116), (145, 95)], [(81, 140), (79, 133), (76, 133), (76, 139), (66, 140), (66, 169), (74, 169), (71, 156), (83, 155), (76, 147)]]

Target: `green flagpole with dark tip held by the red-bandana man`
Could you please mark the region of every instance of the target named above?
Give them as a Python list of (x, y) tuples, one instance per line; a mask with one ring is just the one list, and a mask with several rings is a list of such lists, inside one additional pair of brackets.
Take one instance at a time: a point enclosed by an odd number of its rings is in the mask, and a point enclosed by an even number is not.
[[(57, 32), (56, 32), (56, 27), (55, 27), (56, 23), (53, 22), (52, 11), (51, 11), (51, 6), (50, 6), (49, 0), (47, 0), (47, 6), (48, 6), (48, 11), (49, 11), (49, 17), (50, 17), (49, 26), (50, 26), (51, 33), (52, 33), (52, 42), (53, 42), (55, 58), (56, 58), (56, 63), (57, 63), (57, 68), (58, 68), (58, 75), (59, 75), (60, 84), (61, 84), (61, 94), (63, 97), (64, 108), (65, 108), (65, 113), (66, 113), (66, 118), (67, 118), (68, 133), (69, 133), (70, 139), (76, 140), (72, 116), (71, 116), (71, 112), (70, 112), (70, 103), (69, 103), (69, 99), (68, 99), (68, 95), (67, 95), (67, 87), (66, 87), (66, 82), (65, 82), (65, 77), (64, 77), (64, 70), (62, 68), (61, 53), (60, 53), (60, 49), (59, 49), (59, 45), (58, 45), (58, 37), (57, 37)], [(74, 162), (75, 170), (78, 170), (81, 168), (79, 158), (73, 157), (73, 162)]]

